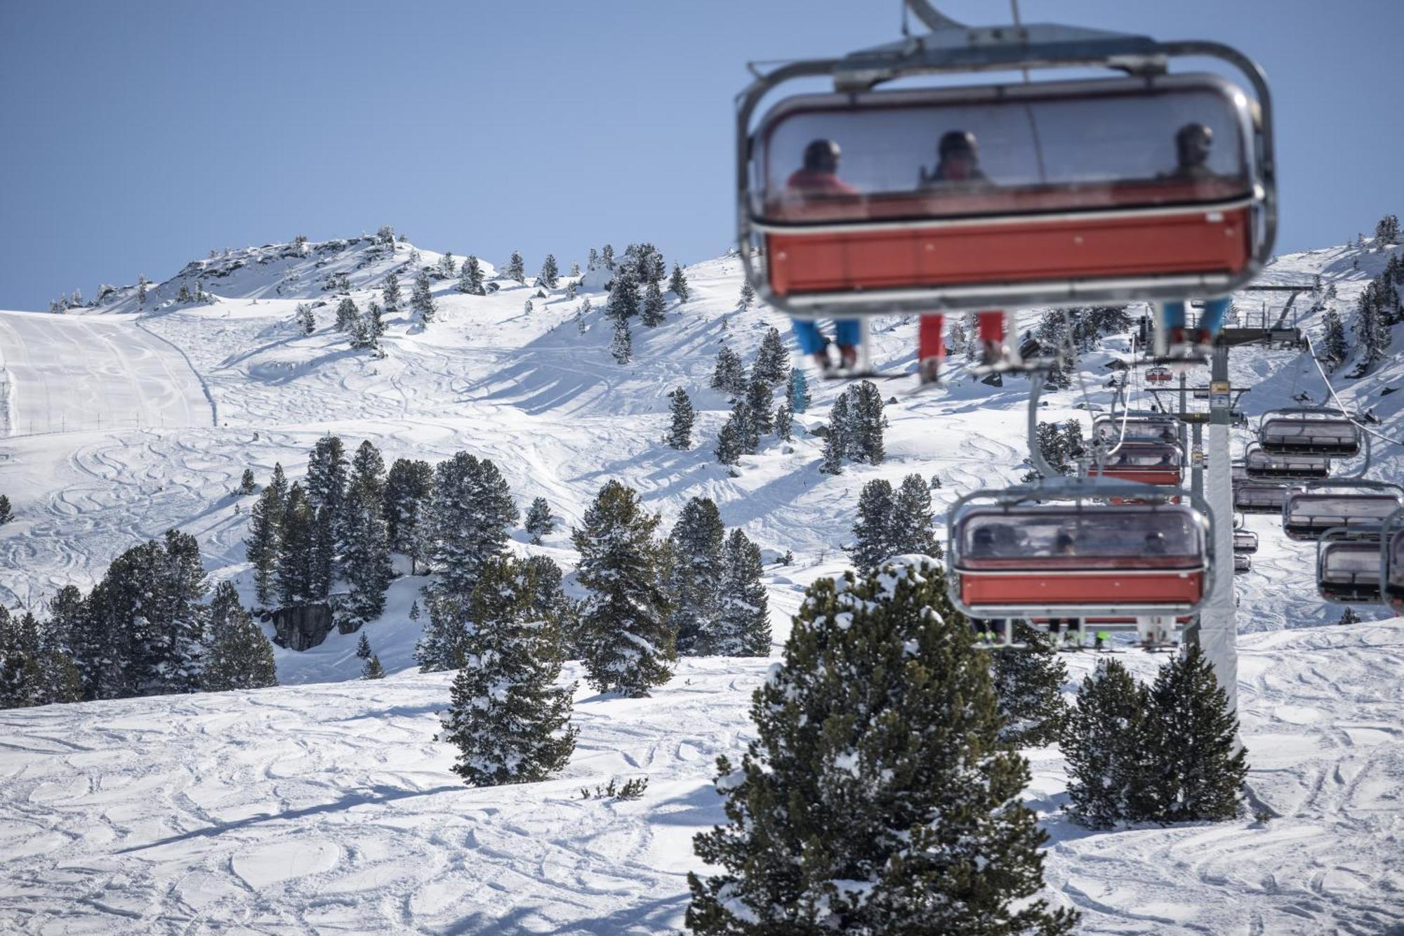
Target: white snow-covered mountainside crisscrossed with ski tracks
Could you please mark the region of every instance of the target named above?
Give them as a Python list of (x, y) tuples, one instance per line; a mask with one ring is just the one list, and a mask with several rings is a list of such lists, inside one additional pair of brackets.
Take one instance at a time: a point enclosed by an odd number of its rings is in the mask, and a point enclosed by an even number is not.
[[(550, 555), (567, 572), (570, 527), (604, 481), (639, 489), (663, 513), (664, 531), (688, 498), (713, 498), (723, 521), (743, 527), (768, 562), (786, 550), (796, 555), (792, 566), (767, 566), (774, 658), (804, 586), (844, 568), (863, 483), (936, 474), (939, 517), (959, 495), (1026, 469), (1028, 384), (983, 386), (956, 363), (945, 385), (920, 395), (907, 395), (906, 381), (879, 382), (885, 398), (897, 395), (882, 465), (819, 474), (821, 440), (806, 430), (824, 424), (842, 385), (814, 381), (795, 441), (743, 457), (733, 478), (710, 451), (729, 409), (708, 389), (716, 353), (726, 342), (748, 361), (769, 325), (786, 327), (764, 308), (734, 309), (734, 257), (689, 267), (692, 299), (671, 306), (663, 327), (636, 325), (636, 358), (623, 367), (609, 357), (598, 291), (584, 333), (573, 322), (578, 302), (562, 291), (534, 299), (528, 315), (534, 290), (504, 282), (489, 297), (461, 297), (444, 281), (435, 284), (438, 320), (427, 329), (402, 312), (388, 316), (385, 358), (350, 351), (327, 327), (334, 301), (316, 309), (314, 334), (295, 332), (293, 308), (322, 295), (314, 281), (324, 273), (350, 271), (365, 308), (365, 287), (402, 253), (358, 260), (350, 252), (302, 266), (258, 260), (206, 281), (247, 298), (163, 306), (139, 322), (0, 313), (0, 429), (8, 431), (0, 471), (17, 510), (0, 531), (0, 602), (42, 610), (62, 585), (87, 589), (115, 555), (180, 527), (198, 538), (213, 576), (232, 579), (251, 603), (243, 537), (253, 498), (232, 493), (239, 475), (251, 467), (263, 483), (281, 462), (300, 478), (312, 444), (333, 431), (352, 450), (372, 440), (388, 462), (438, 461), (458, 450), (491, 458), (521, 509), (545, 496), (560, 519), (543, 545), (517, 533), (511, 548)], [(1355, 256), (1360, 271), (1351, 270)], [(1335, 306), (1348, 320), (1383, 257), (1309, 252), (1279, 260), (1265, 278), (1337, 277)], [(154, 299), (173, 298), (178, 281), (153, 287)], [(1269, 297), (1271, 319), (1283, 301)], [(1252, 312), (1257, 302), (1243, 305)], [(1299, 299), (1299, 311), (1306, 305)], [(117, 308), (135, 312), (135, 298)], [(1318, 318), (1303, 319), (1313, 334)], [(1022, 327), (1033, 320), (1022, 316)], [(915, 320), (883, 319), (873, 330), (878, 364), (910, 370)], [(1106, 360), (1097, 353), (1082, 361), (1094, 408), (1109, 403)], [(1321, 398), (1300, 354), (1238, 353), (1231, 367), (1236, 384), (1254, 385), (1250, 415), (1290, 405), (1302, 391)], [(1380, 395), (1401, 371), (1391, 361), (1338, 391), (1373, 406), (1384, 431), (1404, 436), (1404, 395)], [(674, 386), (685, 386), (698, 409), (689, 451), (660, 443)], [(1042, 419), (1087, 419), (1075, 386), (1046, 401)], [(1376, 465), (1379, 476), (1401, 475), (1391, 451), (1377, 450)], [(1252, 572), (1236, 579), (1243, 729), (1252, 801), (1276, 818), (1265, 828), (1244, 818), (1088, 832), (1061, 815), (1057, 750), (1031, 750), (1028, 798), (1052, 835), (1045, 897), (1081, 909), (1080, 932), (1379, 933), (1404, 925), (1404, 637), (1370, 621), (1387, 618), (1383, 611), (1328, 627), (1339, 610), (1316, 596), (1310, 545), (1282, 537), (1271, 516), (1250, 516), (1248, 527), (1261, 545)], [(691, 836), (723, 819), (709, 783), (715, 758), (734, 758), (751, 738), (750, 693), (771, 661), (688, 659), (649, 700), (581, 687), (580, 743), (560, 779), (469, 790), (449, 770), (449, 749), (432, 741), (449, 679), (413, 669), (418, 625), (406, 614), (420, 585), (397, 579), (385, 617), (366, 627), (393, 673), (383, 682), (329, 682), (359, 670), (358, 635), (334, 632), (303, 654), (278, 649), (284, 687), (274, 690), (0, 713), (0, 930), (680, 928), (685, 873), (701, 870)], [(1073, 691), (1092, 658), (1067, 659)], [(1119, 659), (1143, 679), (1161, 662)], [(630, 776), (650, 780), (639, 801), (580, 798), (581, 786)]]

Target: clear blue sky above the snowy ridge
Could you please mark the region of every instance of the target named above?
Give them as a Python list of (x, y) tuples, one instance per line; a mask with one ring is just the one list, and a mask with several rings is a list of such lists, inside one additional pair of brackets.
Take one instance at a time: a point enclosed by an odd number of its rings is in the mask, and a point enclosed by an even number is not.
[[(1002, 0), (948, 0), (966, 22)], [(750, 59), (897, 38), (894, 0), (0, 3), (0, 308), (212, 247), (382, 223), (501, 261), (724, 250)], [(1213, 38), (1268, 69), (1280, 252), (1404, 214), (1404, 3), (1024, 0), (1029, 22)]]

